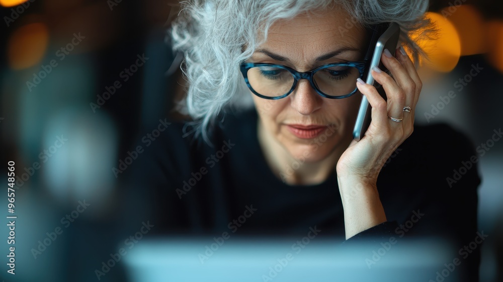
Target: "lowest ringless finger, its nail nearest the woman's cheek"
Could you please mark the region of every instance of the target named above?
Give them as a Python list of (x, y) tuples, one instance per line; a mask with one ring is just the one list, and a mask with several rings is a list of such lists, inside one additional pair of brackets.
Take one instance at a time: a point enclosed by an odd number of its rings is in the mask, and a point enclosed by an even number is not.
[(377, 89), (370, 84), (366, 84), (360, 78), (357, 80), (356, 87), (358, 88), (360, 93), (365, 95), (365, 97), (369, 101), (370, 106), (372, 107), (372, 123), (374, 123), (379, 128), (387, 128), (387, 103), (381, 97), (379, 92), (377, 92)]

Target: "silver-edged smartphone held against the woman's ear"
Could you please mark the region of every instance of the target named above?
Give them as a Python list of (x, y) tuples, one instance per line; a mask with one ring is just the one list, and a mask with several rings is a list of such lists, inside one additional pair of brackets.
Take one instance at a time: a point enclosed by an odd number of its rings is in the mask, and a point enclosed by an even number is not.
[[(395, 55), (396, 45), (398, 44), (398, 37), (400, 36), (400, 27), (397, 23), (385, 23), (379, 24), (372, 28), (372, 36), (370, 39), (370, 47), (365, 55), (365, 60), (370, 60), (370, 66), (365, 70), (363, 81), (367, 84), (373, 85), (381, 97), (386, 100), (386, 93), (384, 89), (374, 78), (370, 75), (370, 69), (374, 66), (379, 66), (383, 72), (388, 72), (388, 70), (381, 63), (381, 55), (384, 49), (388, 49), (391, 54)], [(371, 110), (372, 107), (367, 100), (367, 97), (362, 95), (362, 102), (360, 104), (360, 110), (358, 111), (358, 116), (356, 118), (355, 128), (353, 129), (353, 138), (357, 141), (363, 138), (365, 131), (369, 128), (371, 121)]]

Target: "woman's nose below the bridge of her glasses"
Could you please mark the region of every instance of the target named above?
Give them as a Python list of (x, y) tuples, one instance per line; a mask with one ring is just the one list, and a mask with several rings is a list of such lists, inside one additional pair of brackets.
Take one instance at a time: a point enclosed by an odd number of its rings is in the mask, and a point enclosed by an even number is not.
[(290, 95), (291, 106), (302, 115), (310, 115), (321, 108), (322, 98), (306, 79), (299, 80)]

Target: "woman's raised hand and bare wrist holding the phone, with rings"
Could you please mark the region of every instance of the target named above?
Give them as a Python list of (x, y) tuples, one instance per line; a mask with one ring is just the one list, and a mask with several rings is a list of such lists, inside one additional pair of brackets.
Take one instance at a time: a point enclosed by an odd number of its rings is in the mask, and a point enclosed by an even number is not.
[(377, 177), (386, 160), (412, 133), (414, 109), (422, 88), (414, 64), (403, 48), (395, 51), (395, 57), (385, 50), (381, 61), (393, 78), (378, 68), (371, 72), (384, 88), (387, 102), (374, 86), (361, 80), (357, 83), (358, 90), (372, 106), (372, 122), (360, 142), (351, 142), (336, 168), (346, 238), (386, 221), (377, 192)]

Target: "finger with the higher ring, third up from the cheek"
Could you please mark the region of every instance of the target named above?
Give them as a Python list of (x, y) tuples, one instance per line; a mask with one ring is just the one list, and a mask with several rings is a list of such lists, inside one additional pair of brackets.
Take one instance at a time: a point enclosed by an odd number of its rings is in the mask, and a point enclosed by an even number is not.
[(403, 106), (411, 107), (415, 99), (415, 82), (403, 67), (402, 63), (393, 57), (388, 49), (384, 50), (381, 61), (384, 66), (389, 69), (398, 87), (404, 91), (405, 102), (401, 105), (402, 110)]

